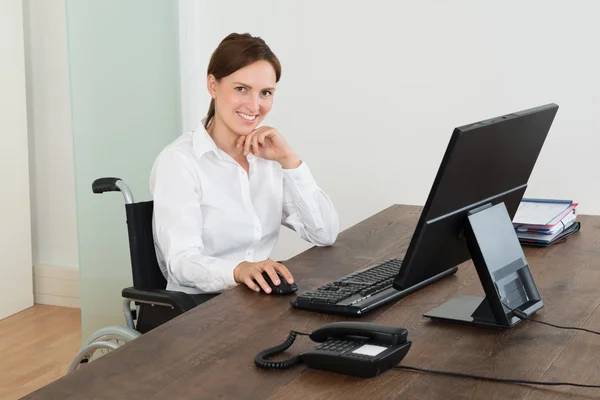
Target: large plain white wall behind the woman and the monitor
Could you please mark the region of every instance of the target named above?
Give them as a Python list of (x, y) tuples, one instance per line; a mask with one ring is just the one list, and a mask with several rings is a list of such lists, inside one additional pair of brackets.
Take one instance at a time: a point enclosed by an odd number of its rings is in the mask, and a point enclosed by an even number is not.
[[(194, 5), (199, 113), (220, 40), (262, 36), (283, 64), (269, 123), (309, 163), (342, 229), (394, 203), (424, 204), (455, 126), (551, 102), (560, 110), (526, 195), (600, 214), (597, 1)], [(307, 247), (282, 232), (274, 257)]]

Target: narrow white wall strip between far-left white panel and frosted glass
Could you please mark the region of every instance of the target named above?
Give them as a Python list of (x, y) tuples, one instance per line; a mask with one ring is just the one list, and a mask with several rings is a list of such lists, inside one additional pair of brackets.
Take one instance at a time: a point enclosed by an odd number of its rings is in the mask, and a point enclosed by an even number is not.
[[(64, 0), (25, 0), (33, 263), (77, 267)], [(47, 268), (46, 268), (47, 269)]]

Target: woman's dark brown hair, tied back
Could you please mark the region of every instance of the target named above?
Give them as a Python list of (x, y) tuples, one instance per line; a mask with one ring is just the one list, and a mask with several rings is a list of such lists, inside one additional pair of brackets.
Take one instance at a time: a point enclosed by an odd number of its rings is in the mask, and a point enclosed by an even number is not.
[[(233, 74), (238, 69), (244, 68), (256, 61), (268, 61), (275, 69), (275, 82), (281, 77), (281, 64), (277, 56), (260, 37), (249, 33), (231, 33), (219, 43), (208, 63), (207, 76), (212, 74), (219, 80)], [(215, 116), (215, 99), (210, 101), (206, 126)]]

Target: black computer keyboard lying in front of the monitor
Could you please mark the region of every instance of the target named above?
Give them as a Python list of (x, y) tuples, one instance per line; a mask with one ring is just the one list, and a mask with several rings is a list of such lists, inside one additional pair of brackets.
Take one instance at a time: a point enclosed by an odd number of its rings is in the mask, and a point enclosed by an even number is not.
[(394, 258), (356, 271), (298, 295), (292, 306), (304, 310), (342, 315), (360, 315), (404, 294), (392, 287), (402, 260)]

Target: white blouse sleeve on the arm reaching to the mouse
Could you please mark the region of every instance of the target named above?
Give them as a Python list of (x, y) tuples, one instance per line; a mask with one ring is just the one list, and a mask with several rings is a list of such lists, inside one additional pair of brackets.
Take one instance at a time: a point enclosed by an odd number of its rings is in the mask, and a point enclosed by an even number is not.
[(162, 153), (150, 179), (155, 242), (169, 277), (181, 286), (219, 292), (236, 286), (238, 264), (202, 253), (202, 189), (193, 166), (176, 151)]

